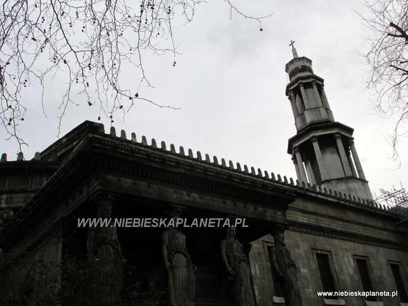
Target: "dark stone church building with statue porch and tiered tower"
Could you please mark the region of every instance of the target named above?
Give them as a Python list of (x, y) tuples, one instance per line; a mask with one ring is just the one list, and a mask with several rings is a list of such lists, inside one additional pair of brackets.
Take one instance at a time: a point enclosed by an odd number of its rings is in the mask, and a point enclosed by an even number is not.
[[(86, 261), (89, 237), (98, 234), (80, 220), (106, 214), (120, 222), (109, 235), (125, 259), (123, 284), (126, 267), (135, 267), (132, 278), (141, 284), (167, 284), (166, 227), (149, 222), (177, 216), (185, 220), (184, 247), (196, 267), (194, 304), (233, 306), (234, 277), (220, 248), (228, 219), (239, 220), (236, 239), (251, 272), (250, 306), (408, 306), (407, 223), (373, 200), (353, 129), (335, 121), (324, 80), (291, 45), (286, 95), (297, 133), (287, 152), (296, 179), (85, 121), (31, 160), (8, 161), (3, 154), (0, 250), (5, 262), (18, 254), (8, 271), (18, 274), (44, 254), (56, 264), (67, 257)], [(195, 219), (222, 222), (193, 226)], [(289, 301), (288, 278), (276, 265), (279, 237), (296, 271), (296, 303)], [(19, 294), (30, 301), (35, 290), (32, 285)], [(0, 288), (0, 305), (11, 305), (8, 294)], [(100, 294), (106, 300), (114, 293)]]

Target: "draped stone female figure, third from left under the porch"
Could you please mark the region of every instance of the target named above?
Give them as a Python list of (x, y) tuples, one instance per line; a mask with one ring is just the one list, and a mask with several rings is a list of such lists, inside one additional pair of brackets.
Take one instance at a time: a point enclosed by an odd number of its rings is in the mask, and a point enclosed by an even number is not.
[(237, 228), (228, 227), (226, 238), (221, 241), (221, 256), (225, 267), (235, 278), (234, 295), (236, 306), (254, 306), (252, 296), (251, 271), (242, 244), (236, 237)]

